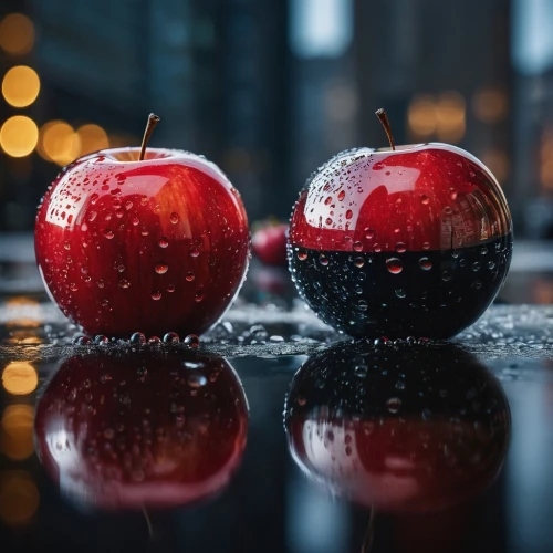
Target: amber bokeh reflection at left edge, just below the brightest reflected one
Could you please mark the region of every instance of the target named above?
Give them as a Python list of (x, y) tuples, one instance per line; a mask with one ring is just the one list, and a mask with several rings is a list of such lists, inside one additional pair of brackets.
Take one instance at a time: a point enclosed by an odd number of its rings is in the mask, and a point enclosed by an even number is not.
[(33, 420), (34, 409), (30, 405), (9, 405), (4, 409), (0, 446), (10, 459), (21, 461), (33, 453)]

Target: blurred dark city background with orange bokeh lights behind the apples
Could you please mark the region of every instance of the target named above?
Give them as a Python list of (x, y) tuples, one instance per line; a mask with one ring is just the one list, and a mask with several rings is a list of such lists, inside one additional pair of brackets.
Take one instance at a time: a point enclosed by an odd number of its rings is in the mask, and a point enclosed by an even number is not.
[(517, 238), (551, 239), (552, 28), (553, 0), (1, 0), (0, 250), (32, 257), (14, 232), (60, 167), (139, 145), (150, 112), (150, 144), (215, 160), (255, 221), (288, 219), (335, 153), (385, 146), (380, 106), (396, 143), (481, 158)]

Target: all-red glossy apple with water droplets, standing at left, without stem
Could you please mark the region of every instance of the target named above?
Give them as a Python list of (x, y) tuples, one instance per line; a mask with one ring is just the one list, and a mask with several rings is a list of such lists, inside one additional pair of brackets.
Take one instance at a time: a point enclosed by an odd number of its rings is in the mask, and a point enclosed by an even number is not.
[(249, 228), (218, 167), (180, 150), (118, 148), (66, 167), (36, 215), (50, 296), (91, 334), (200, 334), (239, 292)]

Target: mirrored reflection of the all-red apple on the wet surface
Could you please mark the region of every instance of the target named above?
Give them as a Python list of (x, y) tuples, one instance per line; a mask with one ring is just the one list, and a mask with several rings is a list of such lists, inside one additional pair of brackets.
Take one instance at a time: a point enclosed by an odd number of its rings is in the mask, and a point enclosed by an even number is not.
[(231, 365), (195, 353), (64, 361), (41, 397), (36, 451), (75, 503), (185, 505), (217, 493), (241, 462), (248, 403)]

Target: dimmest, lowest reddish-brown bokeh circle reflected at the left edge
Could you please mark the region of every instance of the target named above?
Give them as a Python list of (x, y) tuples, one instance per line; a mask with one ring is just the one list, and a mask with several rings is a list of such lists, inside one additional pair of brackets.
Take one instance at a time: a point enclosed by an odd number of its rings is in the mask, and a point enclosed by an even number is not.
[(0, 519), (9, 525), (23, 524), (36, 512), (40, 494), (24, 470), (0, 472)]

